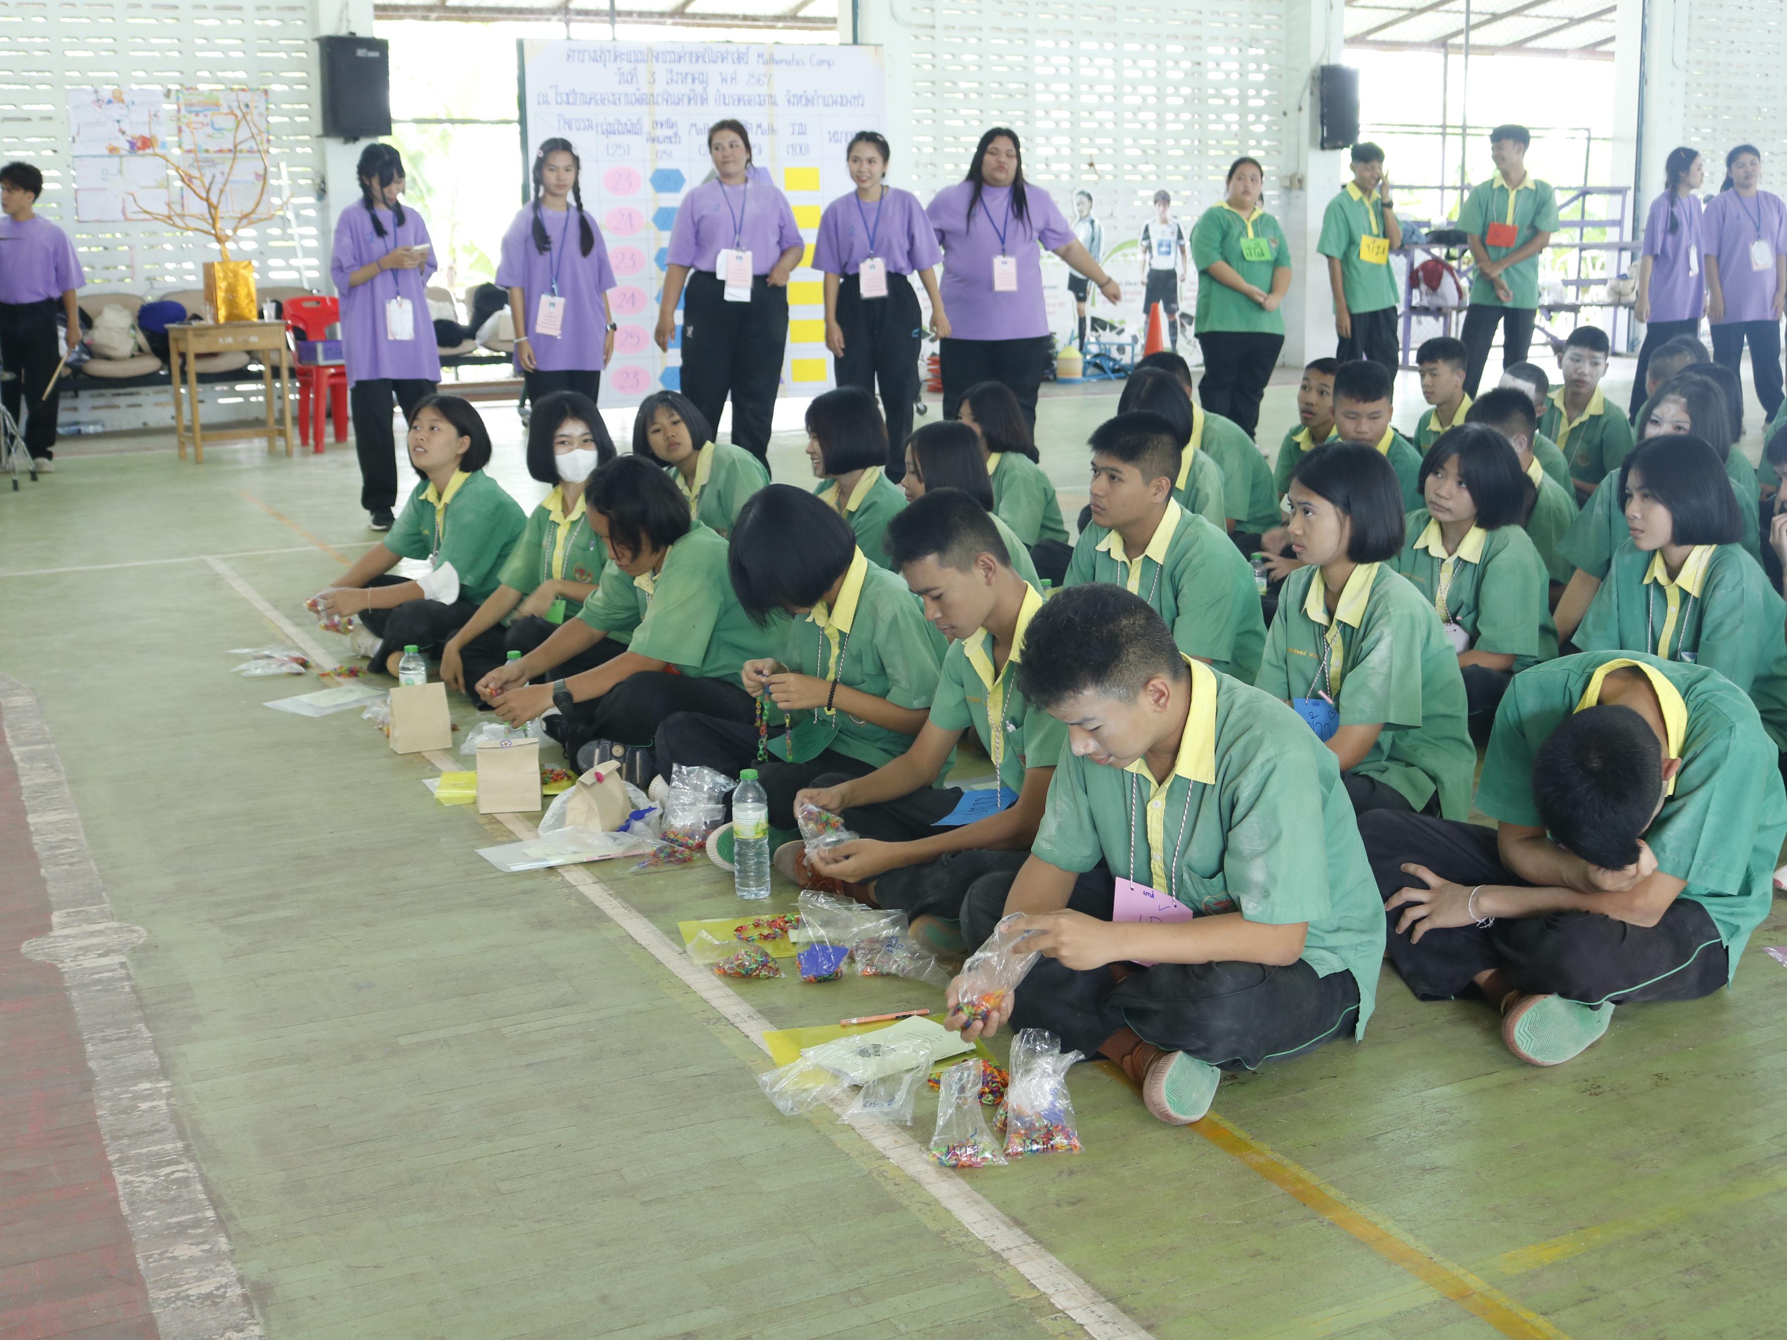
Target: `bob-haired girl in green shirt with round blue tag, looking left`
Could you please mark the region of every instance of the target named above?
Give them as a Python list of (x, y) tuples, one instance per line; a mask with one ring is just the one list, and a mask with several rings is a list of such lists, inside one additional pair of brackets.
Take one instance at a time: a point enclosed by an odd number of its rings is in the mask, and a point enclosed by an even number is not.
[(1476, 749), (1458, 654), (1433, 602), (1390, 563), (1403, 486), (1363, 443), (1308, 452), (1285, 531), (1285, 577), (1254, 686), (1288, 702), (1340, 765), (1353, 809), (1464, 818)]

